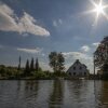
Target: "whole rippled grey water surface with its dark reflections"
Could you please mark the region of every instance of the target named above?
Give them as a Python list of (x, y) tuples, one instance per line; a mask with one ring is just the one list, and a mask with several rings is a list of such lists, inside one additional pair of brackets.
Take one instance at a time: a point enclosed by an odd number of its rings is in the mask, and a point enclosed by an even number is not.
[(108, 108), (108, 82), (0, 81), (0, 108)]

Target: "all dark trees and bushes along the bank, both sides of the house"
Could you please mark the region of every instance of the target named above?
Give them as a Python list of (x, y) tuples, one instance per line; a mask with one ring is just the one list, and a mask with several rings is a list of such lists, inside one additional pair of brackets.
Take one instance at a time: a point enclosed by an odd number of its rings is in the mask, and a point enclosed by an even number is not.
[[(71, 79), (65, 72), (65, 57), (62, 52), (51, 52), (49, 54), (49, 65), (53, 69), (42, 70), (38, 58), (27, 59), (25, 67), (21, 66), (22, 57), (18, 58), (18, 66), (11, 67), (0, 65), (0, 79)], [(108, 80), (108, 37), (98, 44), (94, 52), (94, 67), (97, 68), (96, 75), (90, 75), (89, 79)]]

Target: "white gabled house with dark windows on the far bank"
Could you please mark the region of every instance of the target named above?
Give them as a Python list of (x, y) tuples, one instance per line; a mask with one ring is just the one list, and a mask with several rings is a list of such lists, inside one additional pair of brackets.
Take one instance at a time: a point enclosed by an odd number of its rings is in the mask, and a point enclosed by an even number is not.
[(72, 77), (87, 77), (89, 69), (84, 64), (81, 64), (79, 59), (77, 59), (73, 65), (69, 67), (67, 73)]

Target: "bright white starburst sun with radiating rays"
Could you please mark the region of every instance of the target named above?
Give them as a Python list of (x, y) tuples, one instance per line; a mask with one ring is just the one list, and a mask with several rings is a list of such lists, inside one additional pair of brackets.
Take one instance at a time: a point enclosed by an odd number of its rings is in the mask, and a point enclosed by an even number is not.
[(95, 19), (93, 19), (92, 27), (95, 28), (98, 24), (99, 16), (103, 16), (100, 17), (102, 19), (106, 18), (108, 21), (108, 14), (107, 14), (108, 4), (105, 3), (103, 0), (89, 0), (89, 1), (93, 5), (93, 8), (91, 10), (82, 12), (80, 15), (93, 14), (95, 16)]

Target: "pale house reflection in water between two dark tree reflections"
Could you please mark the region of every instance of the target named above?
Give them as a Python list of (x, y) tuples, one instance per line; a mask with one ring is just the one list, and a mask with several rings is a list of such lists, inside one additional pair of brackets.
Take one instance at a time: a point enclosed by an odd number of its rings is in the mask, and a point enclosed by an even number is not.
[(68, 108), (95, 108), (93, 84), (87, 80), (68, 81), (65, 105)]

